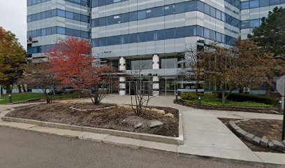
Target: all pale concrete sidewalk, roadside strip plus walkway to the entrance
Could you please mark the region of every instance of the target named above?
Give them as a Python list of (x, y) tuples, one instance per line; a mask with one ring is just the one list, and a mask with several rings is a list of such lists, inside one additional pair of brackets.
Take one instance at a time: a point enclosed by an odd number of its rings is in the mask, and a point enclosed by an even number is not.
[[(17, 127), (24, 130), (59, 134), (67, 137), (78, 137), (93, 141), (100, 141), (106, 144), (129, 146), (131, 148), (148, 148), (161, 151), (175, 152), (180, 155), (197, 155), (210, 158), (222, 158), (230, 160), (241, 160), (258, 163), (271, 163), (285, 165), (285, 154), (279, 153), (258, 153), (252, 152), (244, 143), (228, 130), (228, 127), (221, 123), (218, 118), (270, 118), (282, 120), (282, 116), (263, 113), (244, 113), (229, 111), (205, 111), (191, 109), (186, 106), (173, 104), (174, 97), (156, 97), (149, 102), (149, 106), (168, 106), (179, 109), (182, 113), (184, 145), (177, 146), (158, 142), (143, 141), (124, 137), (115, 137), (108, 134), (95, 134), (89, 132), (78, 132), (61, 130), (57, 128), (27, 125), (23, 123), (10, 123), (0, 120), (0, 125)], [(73, 100), (75, 101), (75, 100)], [(79, 102), (89, 102), (89, 99), (78, 99)], [(130, 104), (129, 96), (119, 97), (110, 95), (104, 99), (106, 103)], [(20, 106), (13, 105), (13, 106)], [(0, 117), (8, 111), (5, 108), (13, 106), (0, 106)]]

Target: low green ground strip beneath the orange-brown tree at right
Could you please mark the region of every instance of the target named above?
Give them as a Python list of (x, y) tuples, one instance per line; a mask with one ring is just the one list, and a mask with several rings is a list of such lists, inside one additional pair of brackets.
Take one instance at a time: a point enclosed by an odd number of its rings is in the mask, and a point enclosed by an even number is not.
[[(198, 99), (188, 100), (187, 104), (198, 104)], [(221, 99), (215, 97), (202, 97), (202, 105), (205, 106), (231, 106), (231, 107), (256, 107), (256, 108), (273, 108), (274, 105), (263, 104), (257, 102), (233, 102), (227, 100), (225, 104), (221, 102)]]

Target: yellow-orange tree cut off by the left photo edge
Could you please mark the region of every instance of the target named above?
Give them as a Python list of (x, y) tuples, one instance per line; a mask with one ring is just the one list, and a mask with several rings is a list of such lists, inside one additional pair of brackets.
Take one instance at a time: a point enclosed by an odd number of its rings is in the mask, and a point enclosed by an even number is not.
[(0, 85), (11, 93), (13, 85), (24, 73), (27, 61), (25, 50), (15, 34), (0, 27)]

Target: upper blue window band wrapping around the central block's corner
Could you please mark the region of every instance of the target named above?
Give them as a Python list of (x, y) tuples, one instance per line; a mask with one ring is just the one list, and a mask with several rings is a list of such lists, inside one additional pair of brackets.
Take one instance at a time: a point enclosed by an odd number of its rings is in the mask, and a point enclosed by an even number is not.
[(119, 15), (111, 15), (103, 18), (96, 18), (92, 20), (92, 27), (103, 27), (108, 25), (115, 25), (124, 22), (132, 22), (136, 20), (145, 20), (148, 18), (156, 18), (165, 15), (174, 15), (177, 13), (185, 13), (190, 11), (200, 11), (213, 18), (226, 22), (229, 25), (240, 28), (240, 20), (233, 18), (221, 10), (209, 6), (207, 3), (201, 1), (187, 1), (182, 3), (173, 3), (167, 6), (159, 6), (156, 8), (147, 8), (145, 10), (138, 10), (131, 13), (122, 13)]

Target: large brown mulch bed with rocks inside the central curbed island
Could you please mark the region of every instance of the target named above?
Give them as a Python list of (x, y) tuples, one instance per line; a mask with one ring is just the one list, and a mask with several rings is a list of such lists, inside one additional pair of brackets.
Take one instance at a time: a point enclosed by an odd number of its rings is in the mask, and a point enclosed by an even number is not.
[[(89, 110), (76, 111), (69, 109), (71, 106)], [(108, 106), (115, 107), (112, 109), (102, 109), (95, 111), (95, 109), (101, 109)], [(97, 127), (127, 132), (158, 134), (168, 137), (178, 137), (179, 111), (177, 109), (166, 107), (155, 107), (155, 109), (161, 109), (166, 113), (172, 113), (174, 118), (166, 118), (162, 114), (156, 113), (154, 111), (144, 111), (142, 115), (137, 116), (132, 109), (113, 104), (100, 104), (98, 106), (94, 106), (91, 103), (79, 104), (63, 102), (18, 107), (14, 111), (6, 114), (6, 117), (40, 120), (51, 123), (64, 123), (68, 125), (78, 125), (85, 127)], [(152, 120), (159, 120), (163, 123), (163, 125), (150, 128), (149, 122)], [(135, 128), (134, 126), (138, 125), (138, 123), (142, 123), (142, 125), (138, 128)]]

